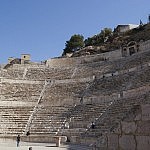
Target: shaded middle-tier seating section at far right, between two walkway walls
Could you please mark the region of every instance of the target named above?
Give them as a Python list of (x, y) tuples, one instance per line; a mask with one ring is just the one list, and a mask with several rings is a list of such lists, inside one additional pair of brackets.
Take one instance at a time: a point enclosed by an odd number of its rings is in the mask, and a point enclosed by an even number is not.
[(97, 79), (95, 85), (89, 89), (89, 93), (91, 93), (91, 95), (96, 95), (96, 93), (120, 93), (121, 91), (126, 91), (148, 84), (149, 81), (150, 69), (149, 67), (147, 67), (137, 72), (129, 72), (127, 74), (122, 74), (118, 76)]

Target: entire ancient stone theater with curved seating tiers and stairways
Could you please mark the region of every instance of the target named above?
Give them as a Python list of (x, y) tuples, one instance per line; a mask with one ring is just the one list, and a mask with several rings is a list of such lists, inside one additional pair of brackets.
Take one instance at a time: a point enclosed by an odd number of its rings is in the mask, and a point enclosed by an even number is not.
[(150, 40), (89, 54), (96, 48), (40, 63), (22, 54), (1, 65), (0, 138), (19, 134), (22, 141), (80, 150), (148, 150)]

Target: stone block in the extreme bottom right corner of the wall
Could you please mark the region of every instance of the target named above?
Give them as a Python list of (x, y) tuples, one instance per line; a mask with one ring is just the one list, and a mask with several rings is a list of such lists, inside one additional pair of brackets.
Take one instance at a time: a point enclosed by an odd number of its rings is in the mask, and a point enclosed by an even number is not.
[(150, 149), (150, 136), (137, 136), (137, 150), (149, 150)]

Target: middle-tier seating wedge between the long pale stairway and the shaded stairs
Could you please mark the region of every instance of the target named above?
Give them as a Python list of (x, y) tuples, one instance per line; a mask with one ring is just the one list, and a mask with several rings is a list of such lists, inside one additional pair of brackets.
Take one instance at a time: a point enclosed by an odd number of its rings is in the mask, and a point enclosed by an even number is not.
[(55, 106), (65, 105), (67, 99), (70, 99), (72, 103), (73, 97), (80, 97), (89, 84), (90, 82), (70, 82), (47, 85), (41, 103)]

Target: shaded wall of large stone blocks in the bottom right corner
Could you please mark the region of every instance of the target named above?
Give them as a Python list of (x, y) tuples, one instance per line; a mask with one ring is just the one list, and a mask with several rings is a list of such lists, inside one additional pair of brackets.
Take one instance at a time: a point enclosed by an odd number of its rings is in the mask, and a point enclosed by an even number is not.
[(140, 105), (136, 114), (131, 113), (106, 137), (108, 150), (149, 150), (150, 104)]

